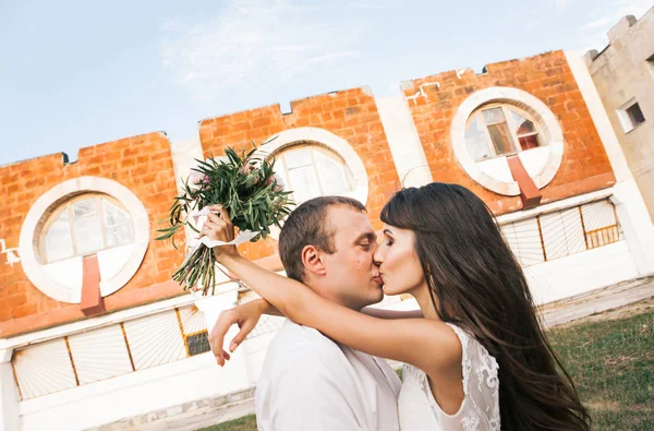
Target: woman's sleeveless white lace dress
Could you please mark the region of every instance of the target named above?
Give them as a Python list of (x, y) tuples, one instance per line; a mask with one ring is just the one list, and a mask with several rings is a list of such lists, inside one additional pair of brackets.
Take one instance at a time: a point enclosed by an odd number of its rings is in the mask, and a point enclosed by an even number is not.
[(427, 375), (405, 364), (398, 399), (400, 429), (499, 431), (497, 361), (474, 337), (456, 325), (448, 325), (455, 330), (463, 347), (463, 403), (457, 414), (447, 415), (436, 404)]

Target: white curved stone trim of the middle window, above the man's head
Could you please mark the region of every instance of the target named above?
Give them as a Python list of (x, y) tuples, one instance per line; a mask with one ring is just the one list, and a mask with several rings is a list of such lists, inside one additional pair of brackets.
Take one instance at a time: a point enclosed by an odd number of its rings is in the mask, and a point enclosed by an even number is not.
[(279, 151), (301, 142), (323, 145), (338, 154), (352, 171), (352, 178), (354, 180), (353, 191), (347, 195), (358, 200), (363, 205), (367, 203), (368, 176), (363, 161), (348, 141), (327, 130), (318, 128), (295, 128), (286, 130), (268, 139), (264, 145), (257, 148), (253, 157), (265, 159)]

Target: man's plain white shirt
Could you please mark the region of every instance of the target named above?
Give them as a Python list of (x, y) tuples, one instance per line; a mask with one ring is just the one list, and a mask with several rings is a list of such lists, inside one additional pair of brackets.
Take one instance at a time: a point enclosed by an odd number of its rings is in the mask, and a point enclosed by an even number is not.
[(257, 382), (257, 428), (399, 430), (400, 385), (386, 361), (287, 320)]

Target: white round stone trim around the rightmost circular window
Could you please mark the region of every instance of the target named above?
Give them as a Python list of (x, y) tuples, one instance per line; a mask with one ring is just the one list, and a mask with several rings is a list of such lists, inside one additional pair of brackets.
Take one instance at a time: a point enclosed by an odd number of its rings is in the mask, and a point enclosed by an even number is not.
[(538, 189), (547, 185), (558, 171), (564, 157), (564, 132), (547, 106), (538, 98), (518, 88), (491, 87), (473, 93), (468, 97), (455, 115), (451, 125), (451, 142), (455, 156), (463, 170), (476, 182), (495, 193), (516, 196), (520, 194), (517, 181), (505, 182), (484, 173), (479, 164), (470, 156), (465, 146), (465, 125), (470, 116), (482, 105), (504, 103), (517, 106), (529, 112), (538, 122), (545, 141), (548, 143), (549, 155), (544, 169), (533, 177)]

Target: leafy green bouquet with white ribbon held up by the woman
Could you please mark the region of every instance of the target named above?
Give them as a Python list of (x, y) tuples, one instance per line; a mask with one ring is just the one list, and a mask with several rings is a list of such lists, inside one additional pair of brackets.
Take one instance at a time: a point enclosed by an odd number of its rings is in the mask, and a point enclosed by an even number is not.
[[(280, 226), (280, 222), (291, 213), (294, 203), (288, 197), (292, 192), (283, 191), (281, 178), (275, 173), (275, 160), (254, 158), (256, 146), (249, 153), (239, 155), (228, 147), (227, 159), (197, 160), (198, 166), (191, 169), (191, 176), (184, 181), (182, 193), (174, 197), (170, 207), (170, 227), (157, 230), (162, 235), (157, 240), (172, 238), (183, 227), (189, 226), (197, 232), (206, 220), (208, 206), (221, 204), (239, 229), (237, 238), (230, 244), (256, 241), (270, 234), (270, 226)], [(194, 223), (191, 223), (191, 219)], [(202, 224), (199, 223), (202, 222)], [(191, 252), (172, 275), (185, 289), (199, 285), (203, 295), (209, 287), (214, 294), (216, 287), (216, 259), (211, 247), (219, 241), (207, 237), (190, 241)], [(220, 244), (223, 244), (220, 242)], [(220, 270), (222, 271), (222, 270)]]

